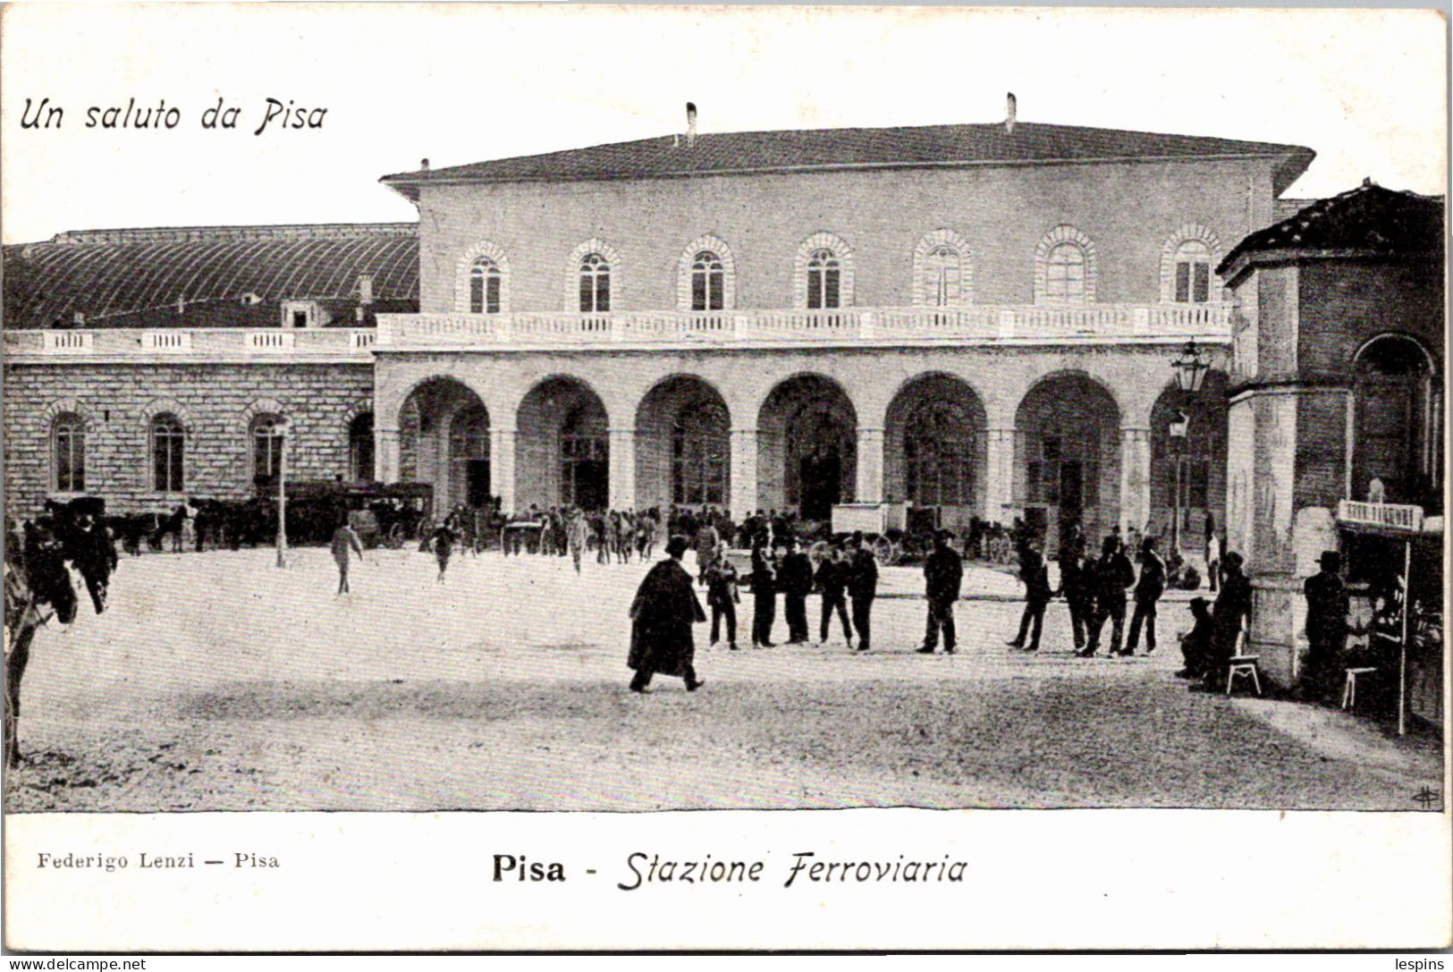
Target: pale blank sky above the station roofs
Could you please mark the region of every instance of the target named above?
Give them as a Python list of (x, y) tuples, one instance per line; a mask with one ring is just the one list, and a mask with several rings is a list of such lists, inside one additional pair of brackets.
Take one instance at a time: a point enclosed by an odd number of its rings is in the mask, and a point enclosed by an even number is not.
[[(1287, 195), (1441, 193), (1444, 25), (1415, 10), (161, 4), (4, 9), (3, 238), (411, 219), (378, 183), (702, 132), (1024, 122), (1308, 145)], [(64, 55), (64, 57), (61, 57)], [(77, 68), (77, 65), (83, 65)], [(41, 99), (61, 126), (22, 128)], [(267, 99), (325, 108), (262, 134)], [(103, 128), (105, 109), (176, 128)], [(235, 129), (203, 129), (222, 99)], [(87, 109), (97, 125), (87, 128)], [(298, 115), (292, 115), (296, 119)], [(315, 115), (312, 118), (317, 118)]]

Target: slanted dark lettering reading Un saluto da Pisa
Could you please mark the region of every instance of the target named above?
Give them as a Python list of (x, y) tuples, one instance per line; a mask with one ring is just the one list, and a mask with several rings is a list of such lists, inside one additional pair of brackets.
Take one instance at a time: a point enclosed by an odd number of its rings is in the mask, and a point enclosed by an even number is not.
[[(264, 131), (286, 131), (289, 128), (323, 128), (323, 118), (328, 113), (325, 108), (305, 108), (276, 97), (266, 99), (262, 105), (243, 109), (228, 105), (225, 99), (216, 99), (212, 105), (196, 115), (196, 123), (205, 129), (251, 131), (262, 135)], [(20, 112), (20, 128), (60, 129), (67, 125), (74, 126), (76, 116), (62, 105), (42, 97), (39, 102), (25, 99), (25, 110)], [(185, 112), (180, 108), (169, 106), (167, 99), (157, 100), (155, 105), (138, 105), (137, 99), (128, 97), (126, 103), (116, 105), (87, 105), (80, 113), (81, 128), (96, 129), (132, 129), (154, 131), (173, 129), (183, 123)], [(256, 125), (256, 128), (253, 128)]]

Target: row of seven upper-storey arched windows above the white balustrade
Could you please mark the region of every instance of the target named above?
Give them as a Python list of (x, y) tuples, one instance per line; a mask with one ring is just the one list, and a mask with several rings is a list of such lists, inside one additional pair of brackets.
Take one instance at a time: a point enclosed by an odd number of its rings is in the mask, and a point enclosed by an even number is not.
[[(705, 244), (705, 246), (703, 246)], [(500, 247), (481, 243), (464, 264), (464, 309), (501, 314), (507, 307), (509, 263)], [(1212, 280), (1221, 256), (1216, 235), (1199, 225), (1177, 230), (1162, 247), (1161, 301), (1206, 304), (1218, 299)], [(583, 314), (612, 309), (612, 280), (619, 257), (600, 240), (577, 247), (567, 307)], [(721, 311), (734, 305), (734, 260), (715, 237), (700, 237), (681, 254), (677, 305), (683, 311)], [(1096, 299), (1098, 266), (1094, 243), (1069, 225), (1055, 227), (1035, 253), (1036, 304), (1088, 304)], [(795, 302), (808, 309), (853, 304), (853, 251), (830, 232), (804, 241), (795, 270)], [(914, 251), (915, 305), (972, 304), (972, 253), (952, 230), (936, 230)]]

